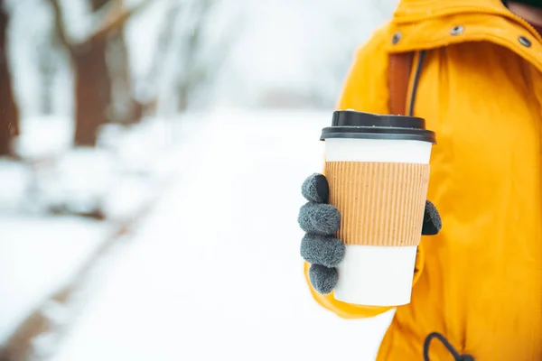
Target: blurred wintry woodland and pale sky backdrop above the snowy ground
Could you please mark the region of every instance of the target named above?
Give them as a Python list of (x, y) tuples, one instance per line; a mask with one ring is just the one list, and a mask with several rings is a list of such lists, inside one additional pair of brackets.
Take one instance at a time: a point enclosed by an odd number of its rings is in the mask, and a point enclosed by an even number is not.
[(354, 51), (397, 4), (0, 1), (0, 154), (43, 116), (70, 119), (72, 145), (93, 147), (103, 125), (222, 104), (333, 107)]

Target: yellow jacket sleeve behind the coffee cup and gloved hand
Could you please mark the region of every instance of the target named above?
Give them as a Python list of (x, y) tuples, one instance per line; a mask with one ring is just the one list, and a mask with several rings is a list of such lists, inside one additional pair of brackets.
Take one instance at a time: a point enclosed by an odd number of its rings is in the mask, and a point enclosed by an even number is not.
[[(369, 113), (388, 113), (388, 53), (385, 51), (385, 44), (390, 41), (388, 33), (387, 27), (379, 29), (369, 42), (356, 52), (337, 103), (338, 110), (353, 109)], [(418, 247), (413, 284), (416, 284), (423, 264), (423, 252), (421, 247)], [(309, 267), (310, 264), (305, 262), (305, 280), (313, 298), (323, 308), (331, 310), (341, 318), (369, 318), (392, 309), (391, 307), (371, 307), (345, 303), (335, 300), (333, 292), (329, 295), (316, 292), (309, 281)]]

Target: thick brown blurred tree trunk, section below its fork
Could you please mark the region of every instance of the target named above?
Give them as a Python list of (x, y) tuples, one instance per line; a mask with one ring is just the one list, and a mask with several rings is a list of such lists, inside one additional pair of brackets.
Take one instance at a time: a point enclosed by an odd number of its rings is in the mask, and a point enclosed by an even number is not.
[(74, 51), (75, 144), (95, 146), (98, 128), (107, 122), (111, 79), (107, 72), (106, 37), (90, 39)]

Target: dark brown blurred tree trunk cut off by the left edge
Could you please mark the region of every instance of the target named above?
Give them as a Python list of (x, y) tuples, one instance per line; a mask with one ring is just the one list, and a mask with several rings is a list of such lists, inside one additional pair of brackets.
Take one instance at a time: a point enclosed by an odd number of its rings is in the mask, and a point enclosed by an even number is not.
[(11, 154), (11, 141), (19, 134), (19, 109), (6, 57), (9, 16), (4, 7), (4, 1), (0, 0), (0, 155)]

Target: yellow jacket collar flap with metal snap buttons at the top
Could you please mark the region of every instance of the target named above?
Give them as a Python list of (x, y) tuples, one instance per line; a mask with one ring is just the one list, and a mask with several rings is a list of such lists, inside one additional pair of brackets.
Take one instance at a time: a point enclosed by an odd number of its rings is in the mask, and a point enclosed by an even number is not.
[(387, 27), (388, 52), (493, 42), (542, 71), (542, 37), (500, 0), (400, 0)]

